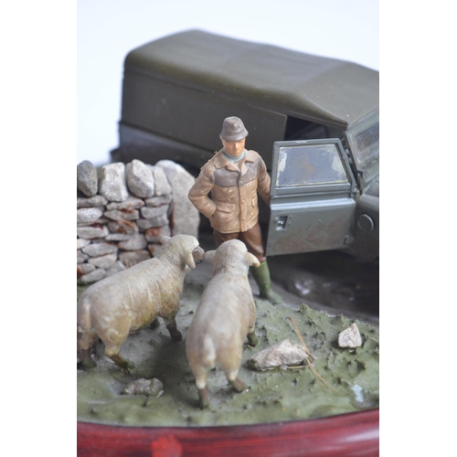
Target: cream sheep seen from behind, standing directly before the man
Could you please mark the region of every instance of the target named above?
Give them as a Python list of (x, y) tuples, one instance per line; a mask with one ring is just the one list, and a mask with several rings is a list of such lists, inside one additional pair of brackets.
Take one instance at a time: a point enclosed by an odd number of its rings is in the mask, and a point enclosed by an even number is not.
[(235, 390), (246, 389), (238, 377), (243, 343), (246, 336), (250, 345), (258, 343), (254, 333), (256, 305), (248, 272), (251, 265), (259, 266), (259, 260), (238, 239), (207, 251), (204, 259), (213, 264), (213, 276), (186, 334), (186, 356), (202, 409), (209, 406), (207, 376), (215, 365), (224, 371)]

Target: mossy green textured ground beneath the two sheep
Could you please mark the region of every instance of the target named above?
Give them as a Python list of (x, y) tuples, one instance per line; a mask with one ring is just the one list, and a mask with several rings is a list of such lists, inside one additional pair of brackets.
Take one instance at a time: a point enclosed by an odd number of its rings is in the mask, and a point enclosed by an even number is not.
[[(78, 295), (84, 287), (78, 287)], [(186, 339), (203, 286), (189, 282), (176, 317)], [(300, 344), (291, 316), (315, 357), (314, 367), (337, 391), (325, 390), (309, 368), (255, 371), (247, 360), (260, 350), (289, 338)], [(356, 322), (362, 346), (356, 350), (337, 345), (339, 332)], [(239, 425), (284, 420), (303, 420), (377, 408), (379, 404), (379, 332), (377, 328), (330, 316), (303, 304), (299, 310), (272, 306), (257, 300), (256, 333), (259, 345), (247, 342), (239, 377), (249, 390), (237, 393), (218, 368), (208, 377), (209, 409), (197, 408), (197, 388), (187, 364), (185, 342), (171, 339), (165, 324), (130, 335), (121, 354), (133, 360), (130, 374), (122, 372), (104, 356), (103, 344), (96, 346), (97, 367), (78, 370), (78, 420), (132, 426)], [(133, 380), (157, 377), (164, 384), (159, 398), (122, 393)]]

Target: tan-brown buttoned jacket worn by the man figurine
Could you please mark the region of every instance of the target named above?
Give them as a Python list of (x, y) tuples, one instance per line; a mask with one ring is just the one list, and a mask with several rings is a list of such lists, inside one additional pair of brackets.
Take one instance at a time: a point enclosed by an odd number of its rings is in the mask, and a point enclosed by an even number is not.
[(255, 151), (245, 154), (240, 170), (239, 164), (229, 162), (221, 149), (203, 165), (189, 191), (190, 201), (220, 233), (254, 227), (259, 218), (257, 191), (267, 205), (270, 202), (270, 176), (265, 163)]

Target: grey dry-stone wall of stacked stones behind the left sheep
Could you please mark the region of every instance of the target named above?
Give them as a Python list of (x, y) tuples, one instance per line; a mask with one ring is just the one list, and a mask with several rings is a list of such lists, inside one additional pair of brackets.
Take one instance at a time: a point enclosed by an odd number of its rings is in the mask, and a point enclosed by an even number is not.
[(199, 213), (187, 193), (195, 178), (164, 160), (147, 165), (104, 165), (100, 176), (87, 160), (77, 167), (78, 283), (97, 282), (150, 259), (160, 237), (197, 238)]

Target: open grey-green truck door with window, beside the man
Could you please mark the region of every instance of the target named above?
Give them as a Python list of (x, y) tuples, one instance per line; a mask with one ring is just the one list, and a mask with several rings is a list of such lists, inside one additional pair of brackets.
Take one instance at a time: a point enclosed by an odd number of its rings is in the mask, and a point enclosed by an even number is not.
[(339, 139), (274, 143), (267, 256), (348, 247), (357, 190)]

